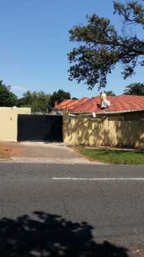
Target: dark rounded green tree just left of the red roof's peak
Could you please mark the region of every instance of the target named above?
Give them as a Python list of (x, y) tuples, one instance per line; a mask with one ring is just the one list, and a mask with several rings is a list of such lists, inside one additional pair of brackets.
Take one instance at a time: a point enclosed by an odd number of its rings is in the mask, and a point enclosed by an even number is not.
[(55, 102), (60, 103), (65, 99), (71, 99), (71, 94), (69, 92), (65, 92), (62, 89), (58, 90), (57, 92), (53, 92), (50, 101), (51, 107), (53, 108), (55, 106)]

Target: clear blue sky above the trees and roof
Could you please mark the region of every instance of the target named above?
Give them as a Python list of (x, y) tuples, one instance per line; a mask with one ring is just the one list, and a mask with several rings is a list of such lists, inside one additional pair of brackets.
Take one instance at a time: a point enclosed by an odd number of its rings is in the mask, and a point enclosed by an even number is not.
[[(123, 0), (123, 2), (125, 2)], [(69, 29), (86, 22), (86, 15), (109, 17), (120, 28), (120, 18), (113, 15), (112, 0), (0, 0), (0, 79), (12, 86), (18, 96), (26, 90), (71, 92), (72, 97), (93, 97), (96, 88), (68, 81), (66, 54), (73, 48)], [(106, 90), (121, 94), (126, 85), (143, 81), (143, 69), (123, 81), (120, 67), (111, 74)]]

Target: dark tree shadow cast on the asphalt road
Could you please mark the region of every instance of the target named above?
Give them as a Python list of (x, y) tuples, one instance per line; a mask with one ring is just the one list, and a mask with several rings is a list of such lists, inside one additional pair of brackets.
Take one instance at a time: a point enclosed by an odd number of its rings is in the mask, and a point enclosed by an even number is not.
[(127, 257), (127, 249), (96, 244), (93, 227), (44, 212), (0, 220), (1, 257)]

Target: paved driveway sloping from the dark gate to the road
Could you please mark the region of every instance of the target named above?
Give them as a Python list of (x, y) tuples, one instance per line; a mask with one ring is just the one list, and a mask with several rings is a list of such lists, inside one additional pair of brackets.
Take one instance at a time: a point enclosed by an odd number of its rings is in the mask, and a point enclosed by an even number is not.
[(91, 163), (63, 143), (3, 142), (11, 160), (17, 162)]

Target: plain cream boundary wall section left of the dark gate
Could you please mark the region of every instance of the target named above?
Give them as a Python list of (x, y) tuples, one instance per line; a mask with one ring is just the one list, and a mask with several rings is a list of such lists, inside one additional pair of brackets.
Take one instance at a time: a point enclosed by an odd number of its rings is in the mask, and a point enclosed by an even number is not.
[(30, 108), (0, 107), (0, 140), (17, 142), (17, 117), (30, 113)]

